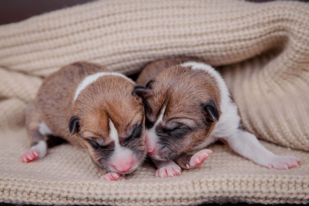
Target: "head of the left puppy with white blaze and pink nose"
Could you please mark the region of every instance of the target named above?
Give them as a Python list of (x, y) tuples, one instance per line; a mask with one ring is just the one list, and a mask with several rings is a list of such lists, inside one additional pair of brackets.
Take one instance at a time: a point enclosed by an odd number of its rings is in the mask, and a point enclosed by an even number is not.
[(83, 88), (73, 103), (72, 138), (78, 138), (95, 165), (108, 172), (130, 173), (146, 156), (143, 104), (135, 87), (128, 78), (103, 75)]

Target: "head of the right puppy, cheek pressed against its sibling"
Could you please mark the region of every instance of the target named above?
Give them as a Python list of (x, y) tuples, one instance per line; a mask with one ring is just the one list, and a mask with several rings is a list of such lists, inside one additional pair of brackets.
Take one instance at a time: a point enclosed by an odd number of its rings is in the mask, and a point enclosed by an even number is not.
[(146, 146), (158, 160), (174, 159), (202, 143), (220, 116), (215, 77), (190, 66), (164, 70), (146, 85)]

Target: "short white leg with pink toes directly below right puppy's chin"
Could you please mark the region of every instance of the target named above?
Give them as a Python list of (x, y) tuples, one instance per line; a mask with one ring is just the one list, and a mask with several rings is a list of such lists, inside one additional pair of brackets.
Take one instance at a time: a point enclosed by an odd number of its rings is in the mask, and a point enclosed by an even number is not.
[(172, 160), (170, 161), (159, 161), (152, 159), (153, 163), (156, 165), (158, 170), (155, 173), (155, 177), (167, 178), (174, 177), (181, 174), (181, 168), (176, 165)]

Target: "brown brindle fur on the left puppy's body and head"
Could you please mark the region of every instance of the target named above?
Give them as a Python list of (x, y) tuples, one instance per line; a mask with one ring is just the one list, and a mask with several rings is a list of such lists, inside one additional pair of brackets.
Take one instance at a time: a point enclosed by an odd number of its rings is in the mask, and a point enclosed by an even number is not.
[[(44, 139), (38, 132), (38, 124), (44, 121), (55, 135), (71, 144), (87, 148), (92, 161), (100, 168), (108, 170), (105, 163), (114, 146), (109, 139), (110, 118), (118, 131), (120, 144), (133, 147), (130, 149), (139, 153), (139, 160), (142, 161), (146, 154), (145, 127), (142, 127), (141, 138), (132, 140), (134, 146), (125, 141), (132, 128), (141, 123), (144, 125), (143, 105), (132, 94), (135, 84), (119, 76), (102, 76), (83, 89), (73, 102), (78, 84), (87, 75), (97, 72), (109, 70), (99, 64), (77, 62), (47, 77), (36, 100), (28, 107), (29, 137), (32, 142)], [(72, 116), (79, 118), (78, 131), (73, 135), (68, 126)], [(89, 140), (100, 140), (108, 147), (95, 149)]]

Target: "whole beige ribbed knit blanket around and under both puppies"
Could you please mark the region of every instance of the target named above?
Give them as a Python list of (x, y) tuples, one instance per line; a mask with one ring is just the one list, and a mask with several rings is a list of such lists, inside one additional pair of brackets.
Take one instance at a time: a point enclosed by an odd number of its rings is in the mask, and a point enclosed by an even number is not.
[[(245, 127), (280, 155), (302, 163), (267, 170), (222, 145), (201, 168), (155, 179), (139, 168), (99, 182), (85, 152), (71, 145), (19, 162), (28, 147), (24, 111), (42, 78), (74, 61), (136, 73), (168, 56), (217, 67)], [(309, 201), (309, 5), (296, 1), (95, 1), (0, 26), (0, 202), (188, 205), (201, 202)], [(65, 158), (64, 158), (65, 157)]]

